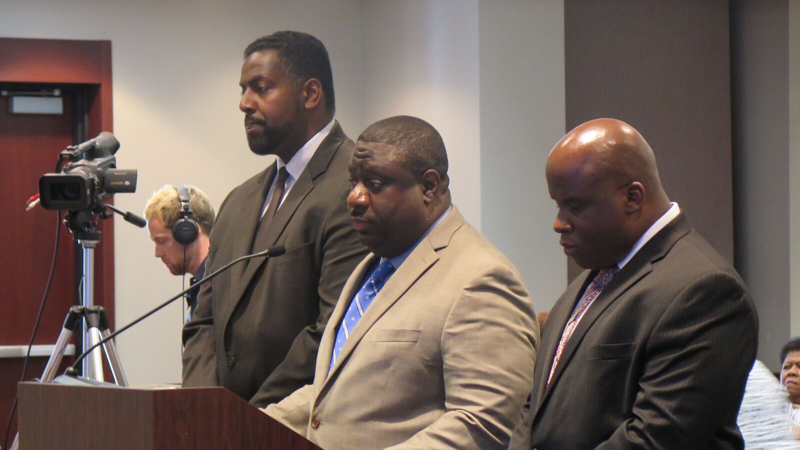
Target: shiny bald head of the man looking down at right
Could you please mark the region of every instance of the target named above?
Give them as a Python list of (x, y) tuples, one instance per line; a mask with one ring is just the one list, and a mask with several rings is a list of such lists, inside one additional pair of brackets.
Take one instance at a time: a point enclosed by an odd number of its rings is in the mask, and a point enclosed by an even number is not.
[(627, 123), (596, 119), (566, 134), (546, 166), (554, 230), (579, 265), (618, 263), (670, 207), (650, 145)]

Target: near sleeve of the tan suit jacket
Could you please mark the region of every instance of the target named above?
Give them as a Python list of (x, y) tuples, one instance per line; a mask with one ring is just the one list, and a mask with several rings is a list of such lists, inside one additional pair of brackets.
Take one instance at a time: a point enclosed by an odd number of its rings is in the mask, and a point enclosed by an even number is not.
[(446, 412), (393, 449), (506, 448), (533, 384), (538, 323), (510, 271), (475, 279), (442, 334)]

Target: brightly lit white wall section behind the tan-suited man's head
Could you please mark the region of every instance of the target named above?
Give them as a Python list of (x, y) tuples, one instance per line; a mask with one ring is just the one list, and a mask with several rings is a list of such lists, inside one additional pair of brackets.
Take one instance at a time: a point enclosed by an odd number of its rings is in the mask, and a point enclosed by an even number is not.
[(454, 203), (479, 229), (478, 1), (362, 5), (362, 128), (392, 115), (436, 127), (447, 148)]

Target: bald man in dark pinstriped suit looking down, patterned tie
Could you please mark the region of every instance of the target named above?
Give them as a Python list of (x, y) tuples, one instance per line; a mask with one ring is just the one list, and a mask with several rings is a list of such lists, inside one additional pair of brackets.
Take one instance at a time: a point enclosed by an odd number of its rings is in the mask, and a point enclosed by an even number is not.
[(758, 320), (692, 229), (633, 127), (570, 131), (546, 165), (561, 245), (588, 269), (542, 329), (512, 448), (742, 448), (736, 414)]

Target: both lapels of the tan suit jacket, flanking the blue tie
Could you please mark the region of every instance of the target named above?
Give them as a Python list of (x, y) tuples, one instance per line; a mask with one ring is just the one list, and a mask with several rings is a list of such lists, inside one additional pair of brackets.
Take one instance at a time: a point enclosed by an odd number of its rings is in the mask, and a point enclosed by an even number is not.
[[(422, 242), (414, 248), (414, 251), (411, 251), (408, 258), (394, 271), (394, 274), (386, 282), (386, 285), (383, 286), (381, 291), (378, 292), (373, 303), (370, 304), (370, 307), (367, 308), (363, 317), (358, 321), (356, 327), (350, 332), (350, 337), (347, 338), (342, 352), (334, 363), (334, 367), (330, 370), (330, 374), (327, 376), (322, 374), (325, 378), (316, 392), (322, 392), (328, 384), (332, 383), (332, 380), (338, 376), (338, 372), (341, 370), (350, 354), (354, 352), (354, 349), (358, 346), (358, 343), (361, 342), (364, 335), (366, 335), (366, 332), (369, 331), (374, 323), (377, 322), (378, 319), (380, 319), (382, 315), (384, 315), (386, 311), (388, 311), (389, 308), (438, 261), (439, 257), (436, 252), (450, 243), (450, 239), (453, 237), (455, 231), (462, 227), (463, 224), (464, 218), (458, 213), (456, 207), (453, 207), (453, 210), (450, 211), (450, 215), (442, 220), (442, 222), (430, 232), (426, 239), (422, 239)], [(365, 260), (365, 262), (374, 263), (375, 259), (371, 259), (371, 261)], [(361, 287), (362, 279), (366, 275), (366, 270), (370, 267), (371, 264), (362, 263), (362, 265), (358, 267), (361, 270), (354, 272), (358, 274), (358, 278), (356, 279), (354, 275), (348, 279), (347, 285), (350, 289), (340, 297), (337, 311), (330, 319), (330, 324), (335, 326), (336, 329), (338, 329), (339, 323), (342, 321), (344, 310), (349, 306), (353, 296)], [(335, 339), (335, 330), (329, 333), (329, 337)], [(330, 353), (333, 349), (333, 342), (327, 342), (326, 348), (328, 344), (330, 345), (330, 348), (328, 348), (328, 352)], [(330, 364), (330, 354), (326, 354), (326, 361)], [(328, 366), (325, 366), (325, 370), (327, 370), (327, 368)], [(319, 370), (318, 367), (318, 371)], [(319, 375), (320, 373), (318, 372), (318, 376)]]

